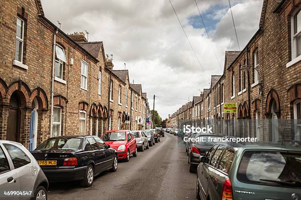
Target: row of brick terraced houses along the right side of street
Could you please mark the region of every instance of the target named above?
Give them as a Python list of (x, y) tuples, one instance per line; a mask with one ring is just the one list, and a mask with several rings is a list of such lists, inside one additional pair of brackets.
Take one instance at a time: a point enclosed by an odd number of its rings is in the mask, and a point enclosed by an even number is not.
[[(263, 0), (258, 31), (243, 50), (225, 52), (223, 74), (204, 89), (201, 125), (222, 135), (300, 143), (300, 17), (301, 0)], [(237, 113), (224, 113), (225, 102), (237, 103)]]

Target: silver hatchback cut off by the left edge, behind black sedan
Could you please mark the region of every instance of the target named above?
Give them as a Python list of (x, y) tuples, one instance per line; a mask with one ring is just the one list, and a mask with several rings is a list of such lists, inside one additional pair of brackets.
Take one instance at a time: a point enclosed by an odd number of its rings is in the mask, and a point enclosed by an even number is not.
[(20, 143), (0, 140), (0, 199), (47, 200), (47, 189), (48, 180), (31, 153)]

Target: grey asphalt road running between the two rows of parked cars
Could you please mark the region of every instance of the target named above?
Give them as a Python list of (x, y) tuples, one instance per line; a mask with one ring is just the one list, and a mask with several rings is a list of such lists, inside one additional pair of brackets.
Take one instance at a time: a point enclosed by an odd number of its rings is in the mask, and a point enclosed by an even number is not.
[(48, 199), (195, 200), (196, 174), (189, 173), (187, 159), (178, 137), (165, 133), (149, 150), (119, 162), (117, 172), (96, 176), (90, 188), (78, 182), (50, 184)]

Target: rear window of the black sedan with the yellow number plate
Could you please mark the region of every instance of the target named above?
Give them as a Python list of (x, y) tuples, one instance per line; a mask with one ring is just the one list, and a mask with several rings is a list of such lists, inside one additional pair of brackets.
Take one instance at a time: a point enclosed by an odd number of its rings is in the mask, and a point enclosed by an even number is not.
[(52, 138), (43, 142), (36, 150), (79, 150), (82, 138)]

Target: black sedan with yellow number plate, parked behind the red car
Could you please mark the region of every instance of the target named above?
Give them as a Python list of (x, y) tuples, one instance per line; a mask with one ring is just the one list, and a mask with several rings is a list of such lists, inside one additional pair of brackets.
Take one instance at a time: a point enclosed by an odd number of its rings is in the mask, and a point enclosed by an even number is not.
[(117, 170), (117, 153), (96, 136), (52, 137), (31, 151), (50, 182), (81, 180), (90, 187), (94, 176)]

